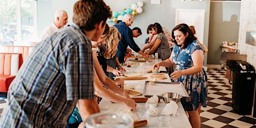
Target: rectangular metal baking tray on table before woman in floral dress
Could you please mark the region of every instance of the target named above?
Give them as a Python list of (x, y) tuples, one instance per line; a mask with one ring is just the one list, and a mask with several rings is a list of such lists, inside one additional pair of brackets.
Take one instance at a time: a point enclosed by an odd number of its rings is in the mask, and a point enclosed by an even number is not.
[(149, 85), (148, 83), (149, 81), (145, 81), (142, 93), (146, 97), (153, 95), (162, 97), (161, 93), (164, 92), (175, 92), (181, 94), (183, 97), (188, 97), (187, 91), (181, 82), (154, 81), (154, 85)]

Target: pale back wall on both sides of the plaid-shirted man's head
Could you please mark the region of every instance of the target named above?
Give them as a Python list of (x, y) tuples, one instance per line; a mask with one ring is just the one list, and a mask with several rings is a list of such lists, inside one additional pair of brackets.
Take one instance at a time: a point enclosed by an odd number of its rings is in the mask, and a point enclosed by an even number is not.
[[(41, 4), (44, 2), (50, 2), (48, 5)], [(65, 9), (68, 13), (68, 21), (72, 20), (72, 8), (73, 4), (77, 0), (38, 0), (38, 36), (40, 37), (42, 28), (53, 22), (54, 11), (58, 8)], [(129, 7), (132, 3), (142, 1), (143, 12), (134, 16), (134, 21), (130, 28), (138, 26), (142, 30), (142, 35), (135, 38), (135, 42), (140, 46), (144, 42), (144, 39), (148, 36), (146, 34), (146, 28), (149, 24), (154, 22), (160, 23), (170, 31), (175, 26), (175, 10), (176, 9), (205, 9), (204, 19), (204, 45), (208, 45), (208, 27), (209, 27), (209, 7), (210, 0), (203, 1), (190, 1), (190, 0), (161, 0), (160, 4), (150, 4), (150, 0), (104, 0), (104, 2), (110, 6), (113, 11), (120, 11)], [(43, 9), (51, 9), (51, 13), (44, 13)], [(40, 13), (39, 13), (40, 12)], [(68, 24), (69, 24), (68, 23)], [(206, 65), (207, 55), (204, 55), (204, 64)]]

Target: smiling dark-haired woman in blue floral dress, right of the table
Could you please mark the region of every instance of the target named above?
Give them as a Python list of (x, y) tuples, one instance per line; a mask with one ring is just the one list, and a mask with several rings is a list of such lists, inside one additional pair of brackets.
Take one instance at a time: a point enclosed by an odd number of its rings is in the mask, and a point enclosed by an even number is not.
[(176, 45), (169, 59), (155, 63), (152, 69), (176, 64), (170, 78), (174, 82), (183, 83), (189, 97), (181, 98), (181, 104), (188, 112), (192, 127), (200, 127), (200, 106), (206, 107), (207, 99), (207, 75), (203, 68), (204, 49), (196, 41), (196, 37), (187, 24), (176, 25), (171, 35), (175, 38)]

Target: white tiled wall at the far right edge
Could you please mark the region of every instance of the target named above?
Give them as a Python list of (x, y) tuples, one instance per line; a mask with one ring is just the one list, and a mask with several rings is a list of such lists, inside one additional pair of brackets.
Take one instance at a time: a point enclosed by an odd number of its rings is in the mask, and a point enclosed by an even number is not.
[(246, 31), (256, 31), (256, 0), (241, 0), (238, 48), (241, 54), (247, 54), (247, 62), (256, 69), (256, 46), (245, 43)]

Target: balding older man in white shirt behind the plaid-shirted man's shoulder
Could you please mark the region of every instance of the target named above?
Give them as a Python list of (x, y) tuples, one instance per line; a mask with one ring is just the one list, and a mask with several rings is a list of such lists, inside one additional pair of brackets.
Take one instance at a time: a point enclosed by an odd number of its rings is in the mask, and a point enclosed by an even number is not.
[(54, 18), (54, 22), (43, 29), (41, 40), (57, 31), (60, 27), (64, 26), (68, 22), (67, 12), (63, 9), (57, 9), (54, 13)]

